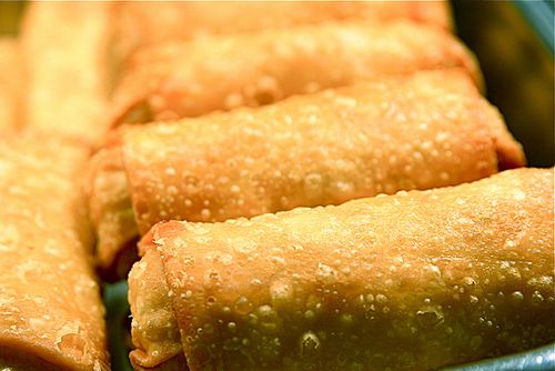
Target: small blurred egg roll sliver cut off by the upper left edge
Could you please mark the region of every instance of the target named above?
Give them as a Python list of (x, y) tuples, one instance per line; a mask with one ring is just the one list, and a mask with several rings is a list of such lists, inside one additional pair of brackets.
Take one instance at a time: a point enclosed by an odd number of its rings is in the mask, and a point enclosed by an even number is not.
[(23, 127), (24, 72), (19, 41), (0, 38), (0, 130)]

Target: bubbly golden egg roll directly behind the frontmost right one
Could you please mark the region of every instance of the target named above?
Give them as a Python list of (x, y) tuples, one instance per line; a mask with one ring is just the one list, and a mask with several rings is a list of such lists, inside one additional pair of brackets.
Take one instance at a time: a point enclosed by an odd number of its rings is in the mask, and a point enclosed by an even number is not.
[(123, 127), (95, 156), (88, 182), (100, 265), (108, 268), (134, 244), (128, 233), (137, 238), (161, 220), (339, 204), (523, 164), (498, 112), (452, 70)]

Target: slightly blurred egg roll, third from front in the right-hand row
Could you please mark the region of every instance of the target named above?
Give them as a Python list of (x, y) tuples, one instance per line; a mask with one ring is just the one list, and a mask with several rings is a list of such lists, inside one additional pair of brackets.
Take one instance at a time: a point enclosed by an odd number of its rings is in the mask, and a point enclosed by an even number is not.
[(141, 50), (113, 96), (110, 123), (196, 117), (387, 73), (466, 69), (471, 52), (447, 31), (402, 20), (324, 23), (170, 42)]

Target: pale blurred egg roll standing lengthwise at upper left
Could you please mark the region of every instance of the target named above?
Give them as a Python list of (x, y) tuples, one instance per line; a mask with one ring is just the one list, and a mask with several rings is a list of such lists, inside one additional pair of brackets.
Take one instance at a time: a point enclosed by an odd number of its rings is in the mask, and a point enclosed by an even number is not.
[(110, 2), (31, 2), (22, 22), (30, 128), (95, 143), (108, 128)]

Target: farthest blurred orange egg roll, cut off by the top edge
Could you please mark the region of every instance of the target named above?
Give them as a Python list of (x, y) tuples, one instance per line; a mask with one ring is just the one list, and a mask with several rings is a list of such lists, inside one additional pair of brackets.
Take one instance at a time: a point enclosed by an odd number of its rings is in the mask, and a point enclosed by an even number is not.
[(127, 1), (118, 4), (113, 56), (141, 46), (206, 34), (253, 32), (329, 20), (411, 19), (451, 28), (446, 1)]

